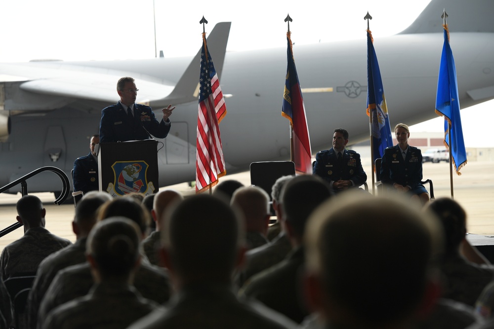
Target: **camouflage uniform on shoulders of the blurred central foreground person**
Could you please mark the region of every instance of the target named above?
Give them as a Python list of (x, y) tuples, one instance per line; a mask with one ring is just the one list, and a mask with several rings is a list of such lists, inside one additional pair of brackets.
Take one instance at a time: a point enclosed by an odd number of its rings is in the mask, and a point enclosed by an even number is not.
[(227, 284), (197, 284), (185, 287), (166, 305), (127, 329), (258, 328), (287, 329), (296, 325), (259, 303), (235, 297)]

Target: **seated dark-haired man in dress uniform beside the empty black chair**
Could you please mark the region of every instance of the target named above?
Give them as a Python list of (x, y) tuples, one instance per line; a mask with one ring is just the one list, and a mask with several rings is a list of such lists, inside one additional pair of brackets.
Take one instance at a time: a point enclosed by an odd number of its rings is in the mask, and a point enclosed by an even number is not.
[(326, 180), (333, 194), (359, 187), (367, 181), (360, 154), (345, 149), (347, 143), (348, 132), (343, 128), (334, 129), (333, 147), (316, 154), (312, 174)]

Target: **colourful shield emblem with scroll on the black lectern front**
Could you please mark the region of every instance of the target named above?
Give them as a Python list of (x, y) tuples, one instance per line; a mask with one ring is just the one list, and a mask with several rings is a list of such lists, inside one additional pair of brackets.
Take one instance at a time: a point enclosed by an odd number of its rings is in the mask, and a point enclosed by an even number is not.
[(147, 181), (148, 164), (145, 161), (117, 161), (112, 165), (114, 183), (106, 189), (113, 197), (129, 193), (153, 194), (153, 182)]

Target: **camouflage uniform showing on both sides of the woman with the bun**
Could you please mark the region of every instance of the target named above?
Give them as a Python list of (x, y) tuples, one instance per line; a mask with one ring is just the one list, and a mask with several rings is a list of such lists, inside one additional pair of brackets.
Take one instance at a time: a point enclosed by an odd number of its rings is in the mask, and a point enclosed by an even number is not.
[[(94, 284), (88, 263), (60, 270), (46, 291), (38, 313), (38, 324), (46, 315), (63, 303), (84, 296)], [(162, 304), (170, 297), (168, 276), (164, 269), (141, 263), (134, 277), (134, 287), (144, 298)]]

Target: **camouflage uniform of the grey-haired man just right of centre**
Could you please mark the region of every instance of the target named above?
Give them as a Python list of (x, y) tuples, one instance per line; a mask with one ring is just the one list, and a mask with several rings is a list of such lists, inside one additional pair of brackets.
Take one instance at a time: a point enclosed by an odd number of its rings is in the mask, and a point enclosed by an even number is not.
[(242, 287), (252, 275), (278, 264), (290, 251), (291, 244), (284, 232), (269, 244), (249, 250), (246, 253), (246, 264), (237, 277), (238, 286)]

